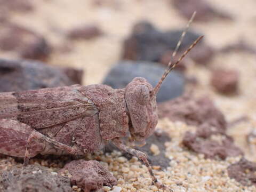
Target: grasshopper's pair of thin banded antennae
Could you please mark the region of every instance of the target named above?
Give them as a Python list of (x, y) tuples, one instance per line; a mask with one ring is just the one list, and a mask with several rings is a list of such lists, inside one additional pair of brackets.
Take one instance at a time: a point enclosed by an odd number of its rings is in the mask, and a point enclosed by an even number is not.
[(161, 77), (160, 81), (159, 81), (159, 82), (157, 83), (157, 85), (154, 87), (152, 94), (155, 94), (155, 95), (157, 94), (157, 92), (158, 92), (159, 88), (161, 87), (161, 85), (162, 85), (162, 83), (163, 83), (165, 77), (170, 73), (170, 71), (171, 71), (172, 69), (174, 69), (174, 68), (178, 65), (178, 63), (186, 56), (186, 54), (188, 54), (188, 52), (189, 52), (191, 49), (193, 49), (193, 47), (203, 38), (203, 35), (200, 36), (200, 37), (198, 37), (198, 38), (196, 39), (196, 41), (195, 41), (193, 44), (191, 44), (191, 45), (189, 46), (189, 48), (181, 55), (181, 57), (178, 59), (178, 61), (176, 61), (175, 63), (173, 63), (173, 58), (175, 57), (175, 55), (176, 55), (176, 53), (177, 53), (177, 51), (178, 51), (178, 49), (179, 49), (179, 47), (180, 47), (180, 44), (181, 44), (181, 42), (182, 42), (184, 36), (186, 35), (187, 31), (188, 31), (188, 28), (189, 28), (189, 26), (190, 26), (190, 23), (193, 21), (193, 19), (194, 19), (194, 17), (195, 17), (195, 14), (196, 14), (196, 12), (193, 13), (193, 15), (191, 16), (190, 20), (189, 20), (188, 23), (187, 23), (187, 26), (186, 26), (185, 30), (184, 30), (183, 33), (181, 34), (180, 39), (179, 39), (179, 42), (177, 43), (177, 45), (176, 45), (176, 47), (175, 47), (175, 50), (174, 50), (174, 52), (173, 52), (173, 54), (172, 54), (171, 60), (169, 61), (168, 66), (167, 66), (167, 68), (165, 69), (165, 72), (164, 72), (163, 76)]

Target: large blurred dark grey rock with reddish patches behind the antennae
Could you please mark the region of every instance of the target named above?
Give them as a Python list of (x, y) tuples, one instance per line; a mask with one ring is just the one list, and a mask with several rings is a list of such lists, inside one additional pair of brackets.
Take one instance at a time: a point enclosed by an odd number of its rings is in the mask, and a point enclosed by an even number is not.
[[(147, 21), (139, 22), (133, 27), (131, 36), (124, 41), (122, 58), (162, 62), (167, 65), (182, 32), (182, 30), (162, 32)], [(201, 34), (188, 31), (178, 53), (185, 51), (199, 36)], [(205, 45), (204, 41), (199, 42), (191, 51), (192, 59), (200, 63), (207, 63), (213, 54), (213, 49)]]

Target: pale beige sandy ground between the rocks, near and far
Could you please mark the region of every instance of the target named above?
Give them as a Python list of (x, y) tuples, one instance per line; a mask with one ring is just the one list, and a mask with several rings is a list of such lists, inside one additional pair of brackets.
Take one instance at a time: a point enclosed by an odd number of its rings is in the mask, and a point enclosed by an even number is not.
[[(139, 20), (149, 20), (159, 29), (183, 28), (187, 20), (180, 17), (170, 1), (154, 0), (106, 0), (102, 7), (93, 7), (92, 1), (54, 0), (36, 2), (36, 10), (32, 13), (13, 13), (12, 20), (43, 34), (53, 46), (65, 44), (61, 36), (63, 31), (83, 23), (98, 23), (105, 35), (90, 41), (74, 42), (74, 50), (66, 54), (53, 54), (47, 61), (51, 65), (73, 66), (86, 71), (83, 83), (100, 83), (109, 68), (120, 58), (122, 42), (130, 34), (131, 27)], [(195, 28), (205, 35), (205, 41), (219, 49), (241, 37), (246, 42), (256, 45), (256, 2), (246, 1), (209, 1), (215, 7), (234, 15), (235, 21), (193, 23)], [(0, 57), (12, 58), (11, 53), (0, 53)], [(210, 71), (204, 66), (190, 65), (189, 75), (199, 79), (195, 89), (196, 95), (210, 95), (228, 121), (246, 115), (249, 121), (241, 122), (228, 130), (236, 144), (245, 151), (245, 156), (256, 162), (255, 151), (246, 143), (245, 136), (256, 129), (256, 55), (248, 53), (217, 54), (211, 61), (211, 67), (225, 66), (239, 71), (239, 94), (225, 97), (216, 93), (209, 86)], [(226, 161), (204, 159), (202, 155), (189, 153), (180, 147), (183, 133), (195, 127), (180, 122), (161, 119), (158, 127), (167, 131), (172, 141), (166, 143), (166, 156), (172, 159), (170, 167), (165, 171), (155, 170), (158, 179), (171, 185), (178, 191), (256, 191), (255, 187), (243, 187), (235, 180), (229, 179), (227, 166), (237, 162), (239, 157)], [(120, 153), (99, 155), (102, 164), (108, 166), (118, 179), (122, 191), (157, 191), (151, 185), (146, 167), (137, 158), (130, 161), (118, 161)], [(3, 159), (2, 159), (3, 160)], [(11, 162), (11, 160), (10, 160)], [(9, 164), (12, 164), (10, 163)], [(42, 161), (40, 161), (42, 162)], [(8, 163), (6, 163), (8, 164)], [(128, 168), (128, 169), (125, 169)], [(202, 171), (204, 170), (204, 171)], [(110, 190), (105, 188), (105, 190)], [(159, 190), (162, 191), (162, 190)]]

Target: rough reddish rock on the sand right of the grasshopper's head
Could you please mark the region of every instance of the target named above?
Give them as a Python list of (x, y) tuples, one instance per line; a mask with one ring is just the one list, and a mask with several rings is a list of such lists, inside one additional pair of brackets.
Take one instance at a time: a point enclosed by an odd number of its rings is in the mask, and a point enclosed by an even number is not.
[[(183, 145), (205, 158), (225, 159), (227, 156), (242, 155), (243, 152), (234, 145), (233, 138), (226, 134), (227, 122), (219, 109), (207, 97), (195, 99), (187, 94), (183, 97), (160, 103), (160, 118), (167, 117), (171, 121), (182, 121), (188, 125), (196, 125), (196, 133), (186, 132)], [(212, 137), (221, 137), (220, 141)]]

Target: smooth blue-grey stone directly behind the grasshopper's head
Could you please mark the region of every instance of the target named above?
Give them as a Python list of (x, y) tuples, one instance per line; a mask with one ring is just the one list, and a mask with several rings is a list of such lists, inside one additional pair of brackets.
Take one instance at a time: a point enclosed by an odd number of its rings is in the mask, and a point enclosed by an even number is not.
[[(103, 81), (103, 84), (110, 85), (115, 89), (125, 87), (135, 77), (145, 77), (147, 81), (156, 86), (161, 79), (165, 68), (152, 62), (120, 61), (114, 66)], [(172, 71), (165, 79), (157, 94), (157, 102), (163, 102), (179, 97), (184, 89), (185, 80), (183, 75)]]

